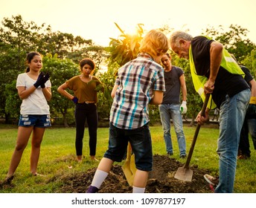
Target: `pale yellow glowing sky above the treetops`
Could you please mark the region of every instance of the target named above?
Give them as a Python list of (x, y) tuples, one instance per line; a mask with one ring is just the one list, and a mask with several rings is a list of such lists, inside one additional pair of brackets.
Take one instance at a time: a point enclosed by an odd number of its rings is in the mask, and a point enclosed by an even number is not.
[(169, 25), (192, 36), (210, 27), (239, 25), (256, 44), (255, 8), (255, 0), (0, 0), (0, 21), (21, 15), (25, 22), (45, 23), (53, 32), (72, 33), (102, 46), (121, 34), (115, 22), (127, 33), (138, 24), (146, 31)]

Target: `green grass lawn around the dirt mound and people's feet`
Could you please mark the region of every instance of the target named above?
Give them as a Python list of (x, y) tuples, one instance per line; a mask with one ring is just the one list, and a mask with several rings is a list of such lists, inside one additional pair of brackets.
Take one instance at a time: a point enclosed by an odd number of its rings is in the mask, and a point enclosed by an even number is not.
[[(216, 127), (216, 126), (215, 126)], [(191, 147), (193, 134), (196, 127), (190, 127), (185, 123), (184, 131), (187, 140), (187, 152)], [(150, 127), (153, 140), (153, 154), (165, 155), (165, 146), (163, 140), (163, 131), (161, 126)], [(173, 157), (179, 159), (179, 150), (176, 141), (176, 135), (172, 128), (173, 137)], [(191, 158), (190, 165), (196, 164), (199, 169), (208, 169), (212, 175), (218, 174), (218, 156), (217, 137), (219, 129), (207, 128), (202, 126), (199, 131), (199, 136), (196, 140), (196, 146)], [(16, 128), (0, 128), (0, 181), (4, 180), (10, 164), (10, 157), (13, 154), (13, 149), (16, 144)], [(31, 177), (29, 160), (31, 152), (31, 143), (28, 143), (27, 148), (22, 156), (21, 163), (16, 169), (13, 188), (0, 189), (4, 193), (54, 193), (62, 186), (61, 180), (65, 175), (75, 172), (86, 172), (88, 169), (97, 166), (97, 163), (89, 159), (89, 137), (88, 129), (85, 131), (83, 140), (83, 163), (75, 161), (74, 149), (74, 128), (54, 128), (51, 127), (45, 131), (45, 136), (42, 141), (41, 154), (39, 158), (38, 170), (45, 177)], [(100, 159), (106, 151), (109, 139), (109, 129), (99, 128), (97, 139), (97, 154)], [(31, 141), (31, 140), (30, 140)], [(255, 193), (256, 192), (256, 151), (252, 148), (252, 155), (249, 160), (237, 161), (237, 174), (234, 184), (234, 192), (237, 193)], [(185, 163), (185, 160), (181, 160)], [(54, 178), (54, 180), (53, 180)]]

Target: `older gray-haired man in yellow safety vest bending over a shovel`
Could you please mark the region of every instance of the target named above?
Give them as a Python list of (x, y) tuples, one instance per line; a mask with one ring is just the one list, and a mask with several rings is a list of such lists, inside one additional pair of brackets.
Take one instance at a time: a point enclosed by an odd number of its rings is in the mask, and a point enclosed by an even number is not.
[(205, 94), (211, 94), (205, 116), (199, 112), (197, 122), (203, 125), (209, 120), (210, 109), (220, 109), (217, 141), (220, 178), (214, 192), (231, 193), (234, 191), (240, 131), (250, 99), (244, 73), (220, 42), (206, 36), (192, 37), (176, 31), (170, 36), (170, 47), (180, 58), (189, 59), (193, 85), (202, 100)]

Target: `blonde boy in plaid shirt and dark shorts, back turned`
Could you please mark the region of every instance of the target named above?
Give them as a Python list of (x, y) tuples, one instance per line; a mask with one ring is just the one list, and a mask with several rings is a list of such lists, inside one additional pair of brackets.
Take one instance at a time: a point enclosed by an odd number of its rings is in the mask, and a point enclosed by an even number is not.
[(153, 167), (148, 105), (159, 105), (162, 101), (164, 70), (159, 63), (168, 49), (169, 42), (164, 33), (150, 30), (141, 42), (137, 58), (119, 68), (112, 90), (109, 147), (97, 166), (87, 193), (100, 189), (112, 164), (123, 160), (128, 142), (137, 168), (132, 192), (145, 192), (148, 173)]

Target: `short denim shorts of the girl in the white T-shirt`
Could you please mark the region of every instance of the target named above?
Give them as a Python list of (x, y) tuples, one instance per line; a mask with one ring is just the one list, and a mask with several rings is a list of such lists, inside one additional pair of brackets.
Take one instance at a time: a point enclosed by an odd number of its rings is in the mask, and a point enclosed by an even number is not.
[(50, 115), (20, 115), (18, 126), (35, 126), (45, 128), (51, 126)]

